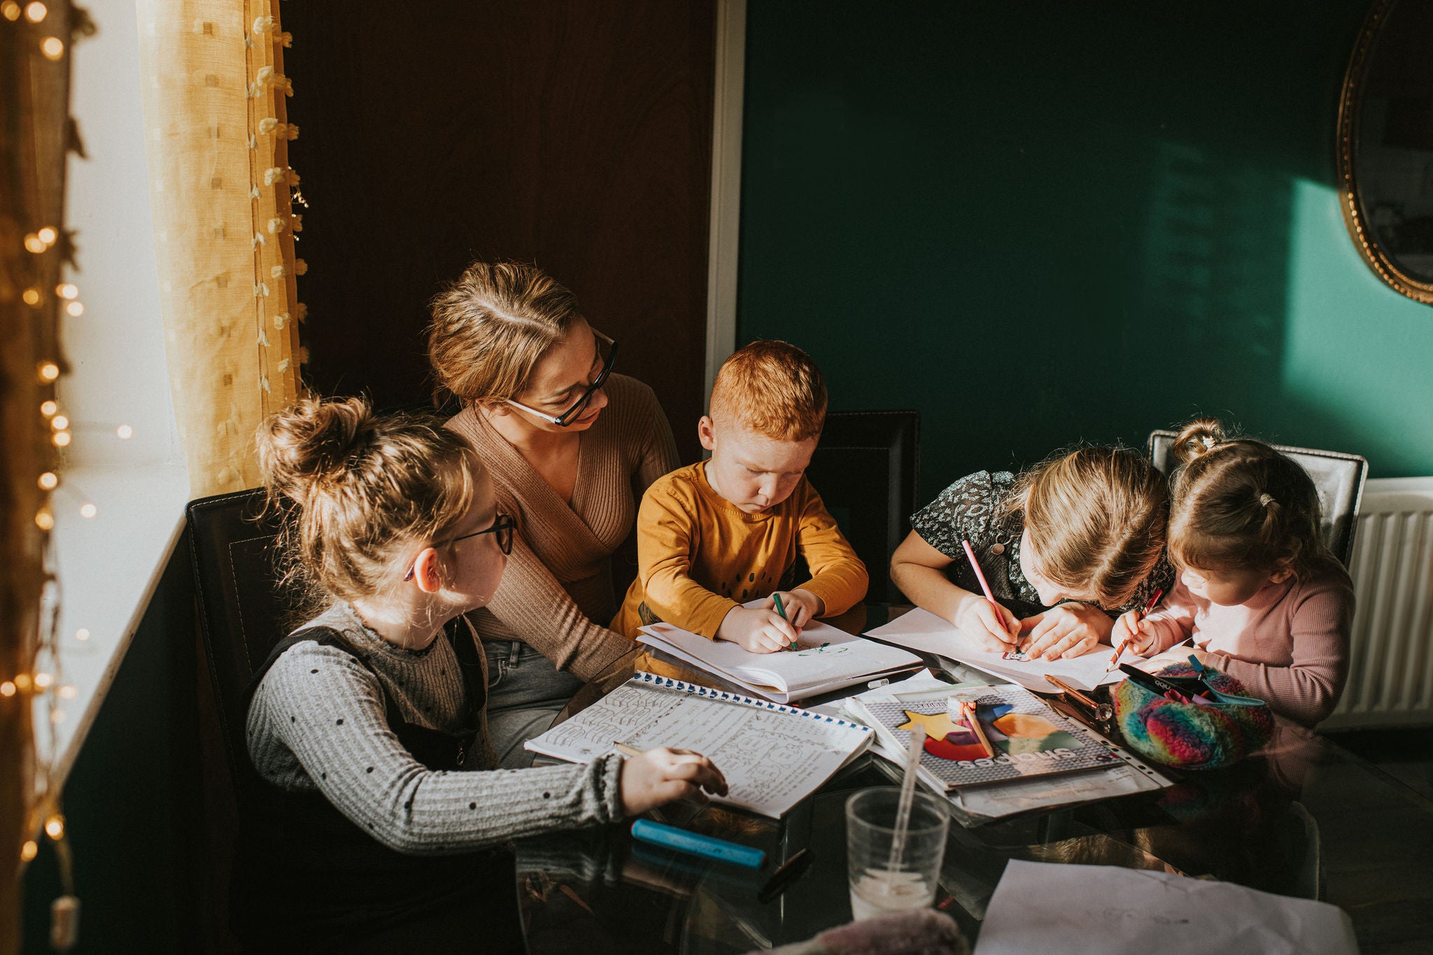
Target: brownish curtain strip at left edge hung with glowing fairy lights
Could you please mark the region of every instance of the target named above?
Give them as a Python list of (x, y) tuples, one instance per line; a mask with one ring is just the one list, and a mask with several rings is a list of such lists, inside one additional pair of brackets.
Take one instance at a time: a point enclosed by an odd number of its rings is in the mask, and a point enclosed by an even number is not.
[[(79, 150), (69, 116), (70, 53), (73, 43), (90, 33), (89, 16), (69, 0), (32, 0), (23, 6), (0, 0), (0, 62), (6, 63), (0, 115), (9, 129), (0, 142), (0, 190), (7, 196), (0, 202), (0, 309), (11, 329), (7, 354), (0, 359), (6, 378), (0, 401), (7, 421), (33, 415), (27, 430), (4, 435), (4, 467), (10, 477), (21, 478), (11, 483), (13, 503), (21, 508), (20, 520), (27, 514), (33, 518), (26, 537), (7, 538), (11, 550), (3, 570), (4, 586), (17, 600), (7, 607), (13, 617), (0, 621), (0, 713), (6, 740), (20, 746), (4, 750), (3, 757), (16, 760), (16, 766), (3, 773), (0, 812), (6, 816), (4, 849), (16, 852), (21, 863), (39, 855), (42, 840), (54, 846), (64, 892), (52, 905), (50, 942), (56, 951), (75, 944), (79, 915), (67, 828), (52, 779), (56, 727), (67, 719), (66, 703), (77, 696), (64, 679), (57, 639), (60, 590), (53, 530), (59, 503), (53, 495), (62, 488), (63, 455), (73, 427), (56, 388), (69, 371), (60, 351), (60, 321), (85, 314), (79, 288), (59, 276), (66, 263), (73, 265), (72, 236), (63, 226), (64, 152)], [(11, 82), (19, 77), (23, 82)], [(86, 505), (93, 507), (83, 500), (79, 508)], [(39, 732), (32, 717), (42, 717)], [(19, 873), (13, 863), (4, 871), (0, 922), (14, 925)]]

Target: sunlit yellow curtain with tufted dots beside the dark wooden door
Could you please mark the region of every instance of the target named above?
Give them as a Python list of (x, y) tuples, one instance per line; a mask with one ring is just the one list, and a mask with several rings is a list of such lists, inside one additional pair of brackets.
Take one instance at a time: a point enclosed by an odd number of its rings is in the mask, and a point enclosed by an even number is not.
[(278, 0), (138, 0), (165, 349), (195, 497), (259, 484), (254, 431), (299, 391)]

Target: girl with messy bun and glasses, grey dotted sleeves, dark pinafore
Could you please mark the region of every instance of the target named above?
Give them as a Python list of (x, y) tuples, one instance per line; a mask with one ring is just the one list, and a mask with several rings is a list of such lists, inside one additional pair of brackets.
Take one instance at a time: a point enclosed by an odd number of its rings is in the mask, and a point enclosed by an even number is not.
[[(479, 455), (361, 398), (265, 422), (271, 503), (325, 609), (257, 673), (235, 922), (252, 951), (520, 951), (507, 839), (725, 793), (696, 753), (496, 770), (464, 613), (499, 588), (513, 521)], [(483, 772), (490, 770), (490, 772)], [(451, 945), (449, 944), (451, 942)]]

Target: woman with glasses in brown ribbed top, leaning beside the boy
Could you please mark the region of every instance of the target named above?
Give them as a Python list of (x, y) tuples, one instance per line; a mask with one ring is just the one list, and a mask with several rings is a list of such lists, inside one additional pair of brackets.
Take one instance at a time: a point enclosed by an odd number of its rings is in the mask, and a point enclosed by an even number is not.
[(489, 663), (489, 732), (504, 767), (572, 694), (632, 649), (609, 630), (612, 551), (646, 487), (678, 467), (656, 395), (613, 374), (618, 344), (533, 265), (474, 262), (433, 301), (428, 359), (463, 409), (517, 523), (493, 600), (471, 614)]

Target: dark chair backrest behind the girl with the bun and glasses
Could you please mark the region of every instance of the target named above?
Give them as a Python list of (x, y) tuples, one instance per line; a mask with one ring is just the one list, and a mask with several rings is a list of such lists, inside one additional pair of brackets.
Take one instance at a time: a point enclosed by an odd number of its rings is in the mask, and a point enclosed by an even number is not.
[(262, 490), (191, 501), (186, 513), (209, 679), (229, 770), (244, 805), (258, 782), (244, 736), (248, 686), (287, 633), (291, 607), (275, 561), (282, 518), (272, 510), (264, 513)]

